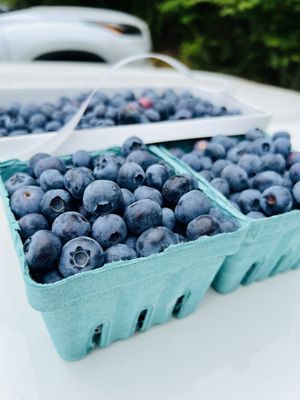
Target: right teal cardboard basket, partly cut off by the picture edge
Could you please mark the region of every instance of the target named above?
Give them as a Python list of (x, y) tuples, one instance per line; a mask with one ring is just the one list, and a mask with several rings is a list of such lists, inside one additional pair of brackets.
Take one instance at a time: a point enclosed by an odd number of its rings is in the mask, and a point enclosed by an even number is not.
[(240, 285), (249, 285), (268, 277), (300, 268), (300, 210), (263, 219), (251, 219), (236, 210), (230, 202), (200, 174), (178, 160), (165, 147), (165, 157), (185, 166), (205, 187), (205, 192), (218, 200), (237, 218), (249, 223), (249, 229), (239, 251), (228, 255), (217, 273), (213, 288), (219, 293), (230, 293)]

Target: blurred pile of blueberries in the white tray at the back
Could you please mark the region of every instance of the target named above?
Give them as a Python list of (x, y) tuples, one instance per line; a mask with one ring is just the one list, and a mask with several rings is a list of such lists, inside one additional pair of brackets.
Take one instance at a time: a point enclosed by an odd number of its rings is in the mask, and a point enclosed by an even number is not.
[[(56, 103), (0, 107), (0, 137), (58, 131), (78, 111), (87, 94), (72, 99), (60, 98)], [(78, 129), (110, 127), (159, 121), (236, 115), (238, 110), (215, 106), (186, 90), (176, 94), (172, 89), (158, 94), (153, 89), (136, 96), (131, 90), (108, 97), (97, 92), (91, 100)]]

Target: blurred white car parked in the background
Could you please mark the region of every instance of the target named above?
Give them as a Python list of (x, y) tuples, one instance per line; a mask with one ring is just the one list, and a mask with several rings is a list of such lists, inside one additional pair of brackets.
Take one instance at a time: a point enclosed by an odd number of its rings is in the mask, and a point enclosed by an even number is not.
[(0, 61), (102, 61), (151, 50), (147, 24), (132, 15), (84, 7), (0, 13)]

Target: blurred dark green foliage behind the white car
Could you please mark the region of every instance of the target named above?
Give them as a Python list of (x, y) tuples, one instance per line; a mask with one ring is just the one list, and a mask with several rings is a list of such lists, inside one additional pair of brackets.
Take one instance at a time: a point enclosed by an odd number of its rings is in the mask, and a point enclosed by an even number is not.
[(299, 0), (8, 0), (126, 11), (150, 25), (154, 49), (189, 66), (300, 89)]

